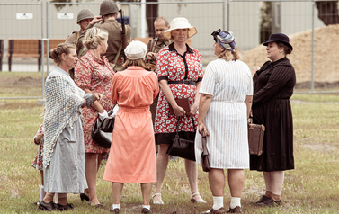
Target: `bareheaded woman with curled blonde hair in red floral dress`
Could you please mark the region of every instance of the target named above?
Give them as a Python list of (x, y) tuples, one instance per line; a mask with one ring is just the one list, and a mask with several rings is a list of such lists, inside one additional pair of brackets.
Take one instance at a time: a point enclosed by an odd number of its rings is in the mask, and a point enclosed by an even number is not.
[(111, 81), (114, 74), (107, 58), (102, 55), (107, 50), (108, 32), (92, 28), (85, 34), (83, 43), (88, 49), (87, 54), (79, 58), (75, 70), (75, 82), (86, 93), (100, 93), (105, 99), (103, 102), (94, 102), (92, 106), (85, 107), (84, 138), (85, 138), (85, 175), (88, 189), (81, 194), (81, 200), (89, 201), (91, 205), (101, 206), (96, 195), (96, 174), (99, 170), (103, 157), (108, 149), (99, 146), (91, 136), (92, 128), (98, 116), (101, 119), (107, 117), (107, 111), (113, 107), (111, 101)]

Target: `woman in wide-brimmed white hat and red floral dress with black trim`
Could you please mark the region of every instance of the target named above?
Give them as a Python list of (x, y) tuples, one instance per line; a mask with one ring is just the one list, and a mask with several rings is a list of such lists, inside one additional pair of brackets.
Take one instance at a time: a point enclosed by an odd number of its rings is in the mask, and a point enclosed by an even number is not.
[[(197, 33), (185, 18), (174, 18), (170, 22), (170, 29), (164, 32), (172, 44), (161, 49), (156, 59), (156, 70), (161, 92), (156, 107), (155, 137), (156, 145), (160, 145), (156, 156), (156, 185), (153, 203), (164, 204), (161, 198), (161, 185), (165, 178), (169, 156), (166, 154), (169, 144), (175, 136), (175, 128), (179, 122), (181, 138), (195, 138), (195, 127), (198, 119), (199, 91), (202, 80), (202, 60), (197, 49), (186, 44), (186, 40)], [(185, 82), (183, 83), (183, 80)], [(188, 98), (191, 111), (186, 112), (175, 99)], [(170, 114), (169, 105), (174, 109)], [(178, 121), (178, 117), (181, 120)], [(192, 117), (194, 124), (192, 124)], [(191, 187), (192, 202), (206, 202), (198, 192), (198, 165), (194, 161), (185, 159), (185, 168)]]

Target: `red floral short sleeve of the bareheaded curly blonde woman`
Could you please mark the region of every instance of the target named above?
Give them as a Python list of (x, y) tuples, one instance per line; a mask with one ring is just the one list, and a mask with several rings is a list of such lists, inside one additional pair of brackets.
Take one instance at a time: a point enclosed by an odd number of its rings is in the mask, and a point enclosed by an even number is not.
[(83, 90), (89, 89), (92, 91), (91, 79), (93, 67), (90, 67), (90, 64), (86, 61), (87, 60), (85, 60), (84, 56), (76, 63), (74, 81), (79, 88)]

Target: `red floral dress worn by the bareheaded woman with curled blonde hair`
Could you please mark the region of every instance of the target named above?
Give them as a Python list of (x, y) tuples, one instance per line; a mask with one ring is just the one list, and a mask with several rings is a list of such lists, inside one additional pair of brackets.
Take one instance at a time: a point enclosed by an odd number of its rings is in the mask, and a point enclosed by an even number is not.
[[(81, 89), (104, 95), (100, 104), (103, 109), (110, 111), (113, 107), (111, 100), (111, 81), (114, 72), (107, 58), (97, 58), (89, 50), (84, 57), (79, 58), (75, 69), (75, 82)], [(98, 111), (92, 106), (83, 108), (85, 153), (107, 153), (109, 149), (99, 146), (92, 138), (92, 128), (98, 118)]]

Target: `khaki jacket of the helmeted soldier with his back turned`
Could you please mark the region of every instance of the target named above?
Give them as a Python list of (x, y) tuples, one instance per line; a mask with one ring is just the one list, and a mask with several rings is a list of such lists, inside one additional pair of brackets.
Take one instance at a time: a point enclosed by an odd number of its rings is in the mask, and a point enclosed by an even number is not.
[[(96, 24), (95, 27), (108, 31), (108, 49), (103, 56), (105, 56), (108, 59), (108, 61), (112, 63), (112, 61), (115, 58), (115, 55), (118, 52), (118, 49), (120, 47), (120, 43), (122, 40), (121, 24), (116, 20), (107, 20), (106, 22), (102, 24)], [(126, 27), (126, 40), (127, 40), (127, 44), (129, 44), (130, 27), (128, 24), (126, 24), (125, 27)], [(121, 49), (121, 53), (122, 52), (123, 52), (123, 49)], [(121, 53), (120, 53), (119, 58), (122, 57)]]

